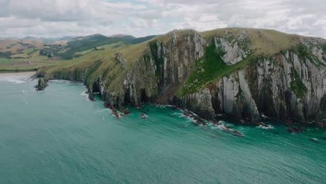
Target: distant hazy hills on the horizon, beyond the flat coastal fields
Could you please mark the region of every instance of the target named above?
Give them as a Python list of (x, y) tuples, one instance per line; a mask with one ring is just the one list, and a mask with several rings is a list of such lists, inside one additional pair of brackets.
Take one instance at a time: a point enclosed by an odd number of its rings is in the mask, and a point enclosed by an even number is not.
[[(0, 58), (28, 58), (27, 49), (38, 49), (40, 55), (58, 56), (61, 59), (72, 59), (88, 53), (89, 49), (98, 49), (103, 45), (132, 45), (154, 38), (155, 36), (146, 36), (135, 38), (134, 36), (118, 34), (114, 36), (103, 36), (94, 34), (90, 36), (65, 36), (61, 38), (36, 38), (26, 36), (25, 38), (6, 38), (0, 40)], [(90, 51), (91, 52), (91, 51)]]

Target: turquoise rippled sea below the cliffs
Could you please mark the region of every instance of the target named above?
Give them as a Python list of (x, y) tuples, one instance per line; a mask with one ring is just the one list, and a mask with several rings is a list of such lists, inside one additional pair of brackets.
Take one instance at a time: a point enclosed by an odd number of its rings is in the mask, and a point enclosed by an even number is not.
[(82, 84), (28, 77), (0, 76), (0, 183), (326, 183), (326, 130), (225, 122), (237, 137), (150, 105), (116, 118)]

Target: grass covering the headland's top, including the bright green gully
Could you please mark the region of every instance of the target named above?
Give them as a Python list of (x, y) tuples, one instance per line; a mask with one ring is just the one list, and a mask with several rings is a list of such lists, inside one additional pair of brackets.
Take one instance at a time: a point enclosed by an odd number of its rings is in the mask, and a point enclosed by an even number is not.
[[(115, 43), (112, 45), (98, 47), (99, 50), (86, 50), (84, 56), (80, 56), (77, 59), (71, 59), (61, 63), (54, 63), (52, 66), (47, 66), (42, 70), (47, 71), (47, 73), (52, 73), (60, 70), (73, 71), (73, 70), (86, 70), (91, 68), (95, 62), (97, 62), (97, 69), (92, 71), (92, 75), (88, 76), (91, 80), (95, 80), (98, 76), (107, 77), (112, 80), (118, 89), (118, 85), (121, 85), (123, 75), (127, 70), (132, 67), (132, 63), (139, 61), (139, 59), (146, 52), (150, 53), (150, 43), (157, 41), (163, 43), (166, 47), (169, 47), (169, 43), (172, 42), (173, 38), (178, 41), (182, 41), (185, 37), (189, 35), (198, 34), (203, 39), (205, 39), (205, 56), (194, 62), (195, 66), (205, 64), (205, 66), (200, 66), (199, 68), (206, 68), (208, 72), (205, 72), (203, 76), (190, 75), (189, 79), (193, 82), (198, 83), (198, 85), (192, 86), (188, 91), (183, 91), (183, 93), (192, 93), (201, 88), (201, 86), (208, 84), (210, 81), (224, 75), (228, 75), (235, 70), (239, 70), (247, 66), (251, 61), (257, 61), (257, 58), (261, 56), (273, 56), (284, 50), (295, 49), (302, 45), (300, 40), (307, 38), (304, 36), (297, 36), (288, 33), (281, 33), (279, 31), (274, 31), (270, 29), (249, 29), (249, 28), (225, 28), (225, 29), (215, 29), (211, 31), (197, 32), (194, 30), (173, 30), (164, 35), (155, 36), (150, 40), (146, 40), (143, 43), (135, 45), (125, 45)], [(238, 41), (238, 38), (244, 38), (245, 43), (244, 48), (250, 54), (249, 56), (240, 61), (236, 65), (227, 66), (223, 61), (219, 61), (220, 54), (218, 51), (214, 51), (216, 48), (213, 47), (212, 38), (219, 37), (225, 38), (229, 43), (233, 44)], [(317, 38), (316, 38), (317, 39)], [(319, 38), (318, 38), (319, 39)], [(325, 40), (324, 40), (325, 41)], [(325, 41), (326, 42), (326, 41)], [(326, 49), (325, 45), (320, 45), (322, 49)], [(153, 53), (152, 53), (153, 54)], [(121, 63), (117, 62), (116, 56), (121, 56), (125, 62), (125, 66), (122, 67)], [(215, 58), (218, 61), (215, 62)], [(209, 61), (208, 63), (206, 61)], [(222, 63), (221, 63), (222, 62)], [(214, 65), (221, 66), (219, 70), (209, 70), (215, 68)], [(110, 74), (108, 74), (110, 71)], [(198, 81), (202, 79), (203, 81)], [(189, 84), (189, 81), (188, 81)], [(192, 84), (193, 85), (193, 84)], [(111, 86), (112, 87), (112, 86)]]

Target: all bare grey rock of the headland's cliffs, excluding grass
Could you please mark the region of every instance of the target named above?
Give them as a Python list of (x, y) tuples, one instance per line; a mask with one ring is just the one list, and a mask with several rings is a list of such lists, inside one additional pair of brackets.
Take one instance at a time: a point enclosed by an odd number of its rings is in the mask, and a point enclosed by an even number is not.
[[(318, 47), (325, 40), (302, 38), (301, 43), (311, 51), (311, 57), (290, 49), (261, 56), (201, 86), (195, 93), (180, 96), (178, 91), (186, 85), (194, 62), (204, 56), (205, 47), (211, 43), (223, 51), (221, 59), (227, 66), (247, 59), (251, 54), (245, 47), (247, 31), (231, 39), (217, 36), (205, 39), (196, 31), (181, 36), (172, 32), (169, 37), (167, 43), (156, 40), (149, 43), (123, 73), (116, 89), (108, 88), (111, 80), (102, 75), (95, 82), (88, 82), (87, 70), (79, 70), (78, 76), (64, 73), (63, 78), (84, 80), (90, 93), (94, 85), (98, 86), (97, 92), (103, 100), (118, 108), (125, 104), (160, 102), (185, 107), (206, 118), (215, 118), (217, 114), (250, 121), (258, 121), (261, 114), (300, 121), (326, 118), (326, 54)], [(126, 68), (123, 54), (116, 57), (121, 67)]]

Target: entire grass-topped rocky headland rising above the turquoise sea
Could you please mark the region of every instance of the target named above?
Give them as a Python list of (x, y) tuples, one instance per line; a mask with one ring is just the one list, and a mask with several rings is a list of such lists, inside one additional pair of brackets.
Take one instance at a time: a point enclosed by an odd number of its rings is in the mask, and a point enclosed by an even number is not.
[(323, 121), (325, 45), (270, 30), (172, 31), (108, 60), (45, 72), (48, 79), (84, 81), (115, 107), (160, 102), (206, 118)]

